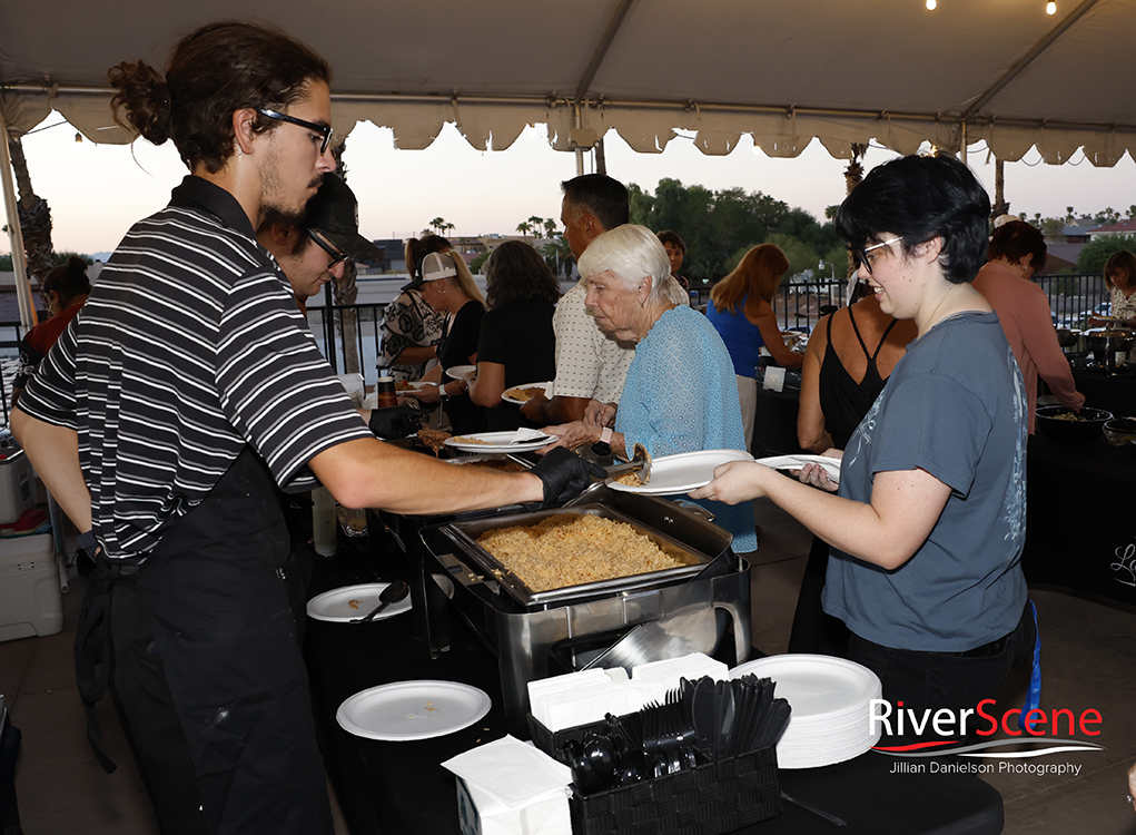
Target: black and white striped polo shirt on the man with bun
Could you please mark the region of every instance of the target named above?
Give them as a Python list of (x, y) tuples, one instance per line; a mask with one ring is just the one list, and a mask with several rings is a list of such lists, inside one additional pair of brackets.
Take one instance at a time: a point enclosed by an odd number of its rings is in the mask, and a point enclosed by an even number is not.
[(314, 456), (371, 437), (248, 216), (193, 176), (127, 233), (19, 408), (78, 433), (111, 558), (152, 550), (245, 444), (302, 491)]

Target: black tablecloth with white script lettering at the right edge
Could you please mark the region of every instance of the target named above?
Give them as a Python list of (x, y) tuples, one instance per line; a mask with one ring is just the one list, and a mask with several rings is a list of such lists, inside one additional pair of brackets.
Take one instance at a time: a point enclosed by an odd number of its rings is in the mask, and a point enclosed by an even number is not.
[(1038, 433), (1026, 475), (1026, 579), (1136, 604), (1136, 458), (1103, 435), (1062, 446)]

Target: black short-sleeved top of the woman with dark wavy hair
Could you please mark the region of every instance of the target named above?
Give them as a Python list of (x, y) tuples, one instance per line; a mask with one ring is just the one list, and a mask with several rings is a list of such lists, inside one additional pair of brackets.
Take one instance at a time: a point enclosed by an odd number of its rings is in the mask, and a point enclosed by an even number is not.
[[(552, 329), (554, 308), (548, 299), (518, 299), (490, 310), (482, 320), (478, 362), (504, 366), (504, 387), (544, 383), (556, 377), (557, 336)], [(520, 407), (501, 402), (485, 410), (490, 429), (540, 428), (526, 419)]]

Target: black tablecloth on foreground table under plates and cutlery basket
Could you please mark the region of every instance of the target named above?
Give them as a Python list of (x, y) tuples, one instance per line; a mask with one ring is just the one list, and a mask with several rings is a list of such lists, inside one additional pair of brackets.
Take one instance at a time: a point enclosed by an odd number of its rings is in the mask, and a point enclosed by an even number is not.
[[(311, 590), (407, 575), (406, 562), (360, 558), (319, 562)], [(458, 805), (453, 776), (444, 760), (506, 733), (496, 659), (453, 619), (452, 649), (432, 659), (406, 613), (367, 625), (309, 619), (306, 654), (314, 704), (328, 774), (352, 835), (457, 833)], [(353, 736), (335, 720), (348, 696), (390, 682), (436, 678), (481, 687), (493, 708), (473, 727), (420, 742), (384, 743)], [(891, 774), (897, 760), (867, 753), (828, 768), (782, 771), (780, 785), (794, 798), (847, 821), (849, 835), (880, 833), (966, 833), (1002, 830), (1002, 799), (969, 775)], [(774, 820), (740, 829), (776, 835), (829, 835), (834, 827), (792, 804)]]

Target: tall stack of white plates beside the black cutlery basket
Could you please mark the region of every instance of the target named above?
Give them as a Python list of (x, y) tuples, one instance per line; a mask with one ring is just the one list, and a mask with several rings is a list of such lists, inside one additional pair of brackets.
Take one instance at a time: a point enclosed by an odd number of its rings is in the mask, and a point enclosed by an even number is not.
[(770, 656), (738, 665), (730, 678), (753, 674), (777, 683), (774, 695), (793, 715), (777, 743), (780, 768), (819, 768), (851, 760), (879, 741), (870, 733), (870, 702), (883, 690), (867, 667), (830, 656)]

